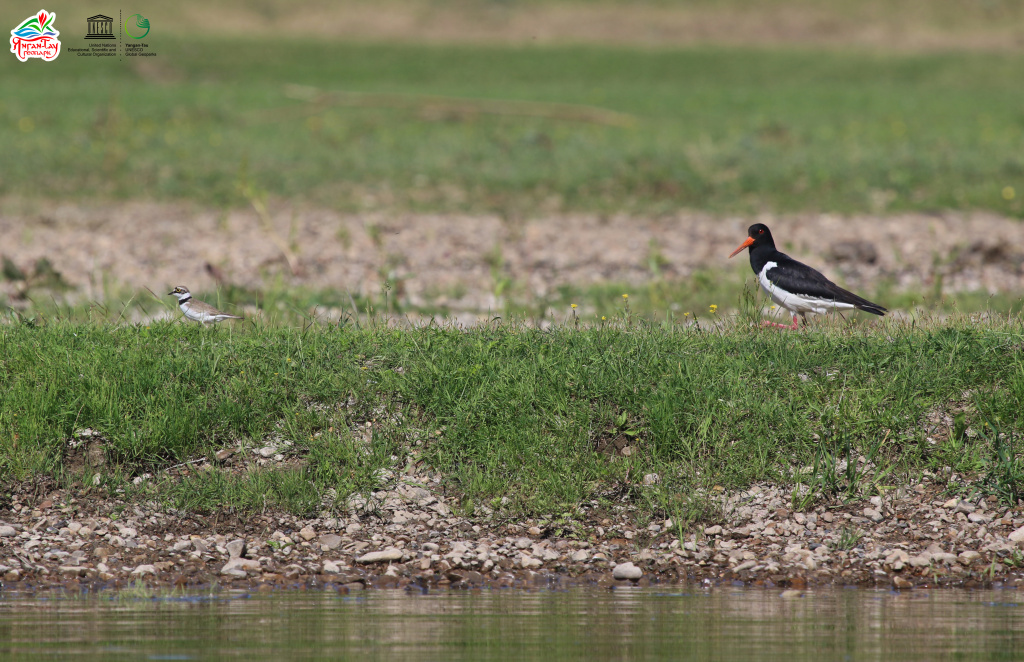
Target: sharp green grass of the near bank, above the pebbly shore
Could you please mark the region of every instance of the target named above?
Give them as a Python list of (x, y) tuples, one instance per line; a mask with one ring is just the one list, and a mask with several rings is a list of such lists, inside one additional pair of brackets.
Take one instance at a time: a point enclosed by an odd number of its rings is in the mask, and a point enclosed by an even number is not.
[[(717, 486), (803, 484), (810, 493), (795, 495), (813, 500), (925, 472), (951, 492), (964, 489), (954, 475), (969, 474), (1016, 498), (1020, 318), (825, 321), (802, 333), (749, 322), (8, 324), (0, 474), (95, 483), (199, 511), (343, 509), (349, 494), (418, 462), (467, 511), (509, 514), (628, 498), (644, 514), (685, 520)], [(252, 458), (267, 446), (282, 461), (182, 469), (218, 450)], [(154, 475), (133, 485), (143, 473)]]

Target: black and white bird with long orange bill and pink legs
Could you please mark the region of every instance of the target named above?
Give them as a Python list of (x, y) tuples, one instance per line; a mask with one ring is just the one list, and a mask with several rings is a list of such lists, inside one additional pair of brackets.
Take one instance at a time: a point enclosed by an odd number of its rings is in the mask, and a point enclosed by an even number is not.
[(821, 272), (798, 262), (775, 248), (771, 231), (764, 223), (755, 223), (748, 231), (746, 241), (732, 251), (735, 257), (744, 248), (751, 249), (751, 268), (758, 275), (758, 283), (771, 300), (793, 313), (793, 326), (772, 324), (781, 329), (797, 329), (797, 316), (807, 321), (808, 313), (824, 315), (829, 311), (856, 308), (872, 315), (885, 315), (886, 308), (844, 290)]

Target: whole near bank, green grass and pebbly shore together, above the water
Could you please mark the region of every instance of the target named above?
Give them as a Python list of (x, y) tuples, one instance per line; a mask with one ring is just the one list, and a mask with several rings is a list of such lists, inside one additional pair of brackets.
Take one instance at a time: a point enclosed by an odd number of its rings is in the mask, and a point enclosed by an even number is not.
[(1019, 319), (781, 333), (753, 304), (657, 325), (623, 306), (543, 330), (0, 326), (0, 576), (1020, 576)]

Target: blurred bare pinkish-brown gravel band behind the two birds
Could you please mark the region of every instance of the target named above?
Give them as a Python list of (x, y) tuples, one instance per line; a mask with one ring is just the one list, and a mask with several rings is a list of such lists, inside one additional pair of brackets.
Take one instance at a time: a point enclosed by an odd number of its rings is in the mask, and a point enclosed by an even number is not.
[[(803, 213), (721, 217), (547, 215), (509, 222), (492, 215), (344, 214), (278, 205), (272, 227), (250, 210), (127, 202), (0, 204), (0, 253), (31, 274), (46, 259), (73, 298), (194, 291), (231, 283), (334, 289), (377, 296), (385, 281), (410, 305), (486, 311), (497, 279), (536, 297), (562, 285), (685, 282), (701, 271), (741, 272), (727, 256), (746, 227), (766, 222), (780, 248), (851, 287), (946, 293), (1024, 291), (1024, 223), (990, 213), (838, 216)], [(286, 253), (288, 255), (286, 256)], [(219, 281), (219, 283), (218, 283)], [(0, 282), (16, 301), (24, 284)]]

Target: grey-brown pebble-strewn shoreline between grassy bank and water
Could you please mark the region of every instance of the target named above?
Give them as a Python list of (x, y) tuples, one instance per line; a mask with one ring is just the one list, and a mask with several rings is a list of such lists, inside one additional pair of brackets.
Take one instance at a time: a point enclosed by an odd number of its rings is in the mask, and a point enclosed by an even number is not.
[(720, 518), (686, 529), (638, 526), (628, 503), (557, 524), (480, 509), (467, 518), (439, 482), (416, 477), (315, 519), (198, 515), (88, 488), (15, 487), (9, 499), (0, 509), (5, 591), (1024, 584), (1024, 510), (991, 496), (949, 498), (935, 484), (804, 511), (792, 509), (792, 488), (758, 485), (722, 494)]

